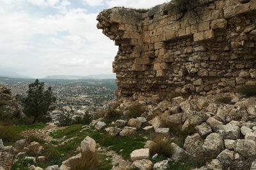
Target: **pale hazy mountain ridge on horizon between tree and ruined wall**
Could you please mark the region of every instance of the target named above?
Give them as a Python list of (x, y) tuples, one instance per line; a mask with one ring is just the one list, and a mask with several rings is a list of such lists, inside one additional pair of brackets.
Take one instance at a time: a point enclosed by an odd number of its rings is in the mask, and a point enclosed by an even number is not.
[(45, 79), (61, 79), (61, 80), (79, 80), (79, 79), (112, 79), (116, 78), (115, 74), (92, 74), (87, 76), (68, 76), (68, 75), (53, 75), (45, 76)]

